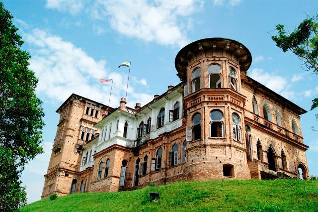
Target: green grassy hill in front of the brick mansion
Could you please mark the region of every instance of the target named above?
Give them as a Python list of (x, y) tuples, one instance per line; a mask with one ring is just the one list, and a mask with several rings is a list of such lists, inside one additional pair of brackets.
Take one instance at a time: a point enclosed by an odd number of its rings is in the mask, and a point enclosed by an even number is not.
[[(160, 199), (151, 202), (150, 192)], [(317, 180), (180, 182), (117, 193), (80, 193), (41, 200), (22, 212), (318, 211)]]

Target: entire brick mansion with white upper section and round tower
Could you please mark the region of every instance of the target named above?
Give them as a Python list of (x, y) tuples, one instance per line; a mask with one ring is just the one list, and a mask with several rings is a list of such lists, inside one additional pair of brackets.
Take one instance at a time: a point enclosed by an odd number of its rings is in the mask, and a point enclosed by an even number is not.
[(42, 199), (150, 183), (309, 178), (307, 111), (248, 77), (251, 62), (243, 44), (206, 38), (178, 52), (181, 82), (144, 106), (72, 94), (56, 111)]

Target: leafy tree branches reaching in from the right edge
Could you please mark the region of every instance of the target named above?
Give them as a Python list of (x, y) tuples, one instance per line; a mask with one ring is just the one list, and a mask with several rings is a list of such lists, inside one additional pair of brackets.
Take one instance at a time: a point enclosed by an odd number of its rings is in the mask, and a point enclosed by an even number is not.
[[(302, 61), (302, 68), (305, 71), (313, 70), (318, 74), (318, 14), (316, 17), (309, 17), (299, 24), (291, 33), (286, 32), (284, 25), (276, 25), (278, 36), (271, 36), (276, 45), (286, 52), (292, 51)], [(318, 98), (313, 101), (311, 110), (318, 107)]]

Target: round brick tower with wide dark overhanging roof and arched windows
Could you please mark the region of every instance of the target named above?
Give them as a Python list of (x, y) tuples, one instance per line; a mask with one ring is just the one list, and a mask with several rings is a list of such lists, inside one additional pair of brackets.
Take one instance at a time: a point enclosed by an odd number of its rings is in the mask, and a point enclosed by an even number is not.
[(251, 61), (243, 44), (227, 38), (201, 39), (178, 52), (177, 76), (185, 82), (188, 180), (250, 178), (240, 79)]

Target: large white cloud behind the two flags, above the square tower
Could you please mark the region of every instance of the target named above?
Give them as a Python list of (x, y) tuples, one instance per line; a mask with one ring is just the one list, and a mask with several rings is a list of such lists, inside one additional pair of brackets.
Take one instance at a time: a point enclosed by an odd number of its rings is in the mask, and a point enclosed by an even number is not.
[[(61, 37), (41, 29), (23, 33), (25, 41), (32, 46), (33, 55), (30, 68), (39, 78), (36, 92), (44, 100), (65, 101), (72, 93), (108, 104), (110, 86), (100, 84), (100, 78), (114, 78), (111, 106), (118, 106), (120, 97), (125, 94), (127, 74), (112, 73), (106, 68), (106, 61), (96, 61), (82, 49)], [(144, 79), (137, 80), (147, 84)], [(106, 95), (105, 95), (106, 94)], [(147, 103), (152, 95), (136, 93), (129, 87), (131, 102)]]

